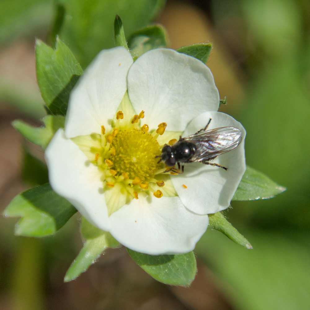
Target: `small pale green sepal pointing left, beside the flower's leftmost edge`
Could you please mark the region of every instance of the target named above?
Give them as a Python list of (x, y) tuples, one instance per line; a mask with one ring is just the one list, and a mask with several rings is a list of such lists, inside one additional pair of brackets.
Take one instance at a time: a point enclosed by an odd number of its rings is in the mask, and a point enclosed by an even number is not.
[(40, 145), (43, 149), (45, 149), (47, 144), (49, 144), (53, 138), (55, 132), (59, 128), (64, 127), (64, 120), (65, 118), (63, 116), (47, 115), (43, 118), (45, 127), (33, 127), (20, 120), (13, 121), (12, 125), (30, 142)]

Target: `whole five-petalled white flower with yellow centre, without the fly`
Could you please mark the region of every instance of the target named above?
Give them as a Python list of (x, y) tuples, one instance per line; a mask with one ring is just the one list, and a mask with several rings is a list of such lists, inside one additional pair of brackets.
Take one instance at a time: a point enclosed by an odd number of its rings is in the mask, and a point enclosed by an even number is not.
[[(207, 214), (229, 206), (245, 171), (245, 130), (218, 108), (212, 73), (200, 60), (155, 49), (133, 63), (125, 48), (101, 51), (70, 95), (64, 131), (46, 149), (51, 186), (132, 250), (189, 252)], [(228, 170), (191, 163), (184, 174), (163, 173), (155, 158), (162, 146), (210, 118), (208, 129), (242, 132), (241, 144), (214, 160)]]

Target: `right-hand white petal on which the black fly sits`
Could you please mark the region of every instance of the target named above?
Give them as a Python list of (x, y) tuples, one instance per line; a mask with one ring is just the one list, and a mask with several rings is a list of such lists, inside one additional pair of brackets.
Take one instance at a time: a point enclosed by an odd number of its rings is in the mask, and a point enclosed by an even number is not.
[[(184, 174), (171, 175), (171, 181), (184, 206), (197, 214), (210, 214), (226, 209), (246, 170), (243, 126), (228, 114), (206, 112), (193, 119), (183, 133), (192, 135), (204, 128), (209, 119), (209, 129), (232, 126), (241, 130), (242, 141), (237, 148), (219, 155), (212, 163), (218, 163), (228, 170), (201, 163), (185, 164)], [(187, 187), (184, 188), (183, 184)]]

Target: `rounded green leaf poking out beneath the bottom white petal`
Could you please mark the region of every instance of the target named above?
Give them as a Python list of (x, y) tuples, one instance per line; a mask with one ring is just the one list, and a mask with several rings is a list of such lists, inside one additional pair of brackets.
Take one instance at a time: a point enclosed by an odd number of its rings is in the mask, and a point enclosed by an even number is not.
[(178, 286), (189, 286), (197, 272), (193, 252), (178, 255), (148, 255), (127, 249), (131, 258), (155, 280)]

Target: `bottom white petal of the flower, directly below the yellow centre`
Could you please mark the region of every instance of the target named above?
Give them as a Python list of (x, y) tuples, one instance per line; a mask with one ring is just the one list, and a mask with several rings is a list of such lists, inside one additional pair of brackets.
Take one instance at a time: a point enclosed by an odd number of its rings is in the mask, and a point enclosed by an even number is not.
[(124, 246), (150, 255), (187, 253), (206, 231), (207, 215), (187, 210), (179, 197), (143, 197), (110, 216), (112, 236)]

